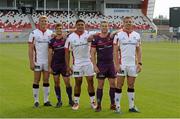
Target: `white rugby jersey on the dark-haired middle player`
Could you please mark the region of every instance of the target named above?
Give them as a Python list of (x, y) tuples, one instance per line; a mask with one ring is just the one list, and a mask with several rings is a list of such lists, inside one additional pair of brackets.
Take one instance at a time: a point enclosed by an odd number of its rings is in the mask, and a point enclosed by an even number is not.
[(66, 50), (71, 50), (73, 55), (73, 64), (77, 66), (87, 65), (90, 60), (90, 44), (87, 39), (90, 36), (88, 32), (78, 35), (76, 32), (71, 33), (65, 43)]

